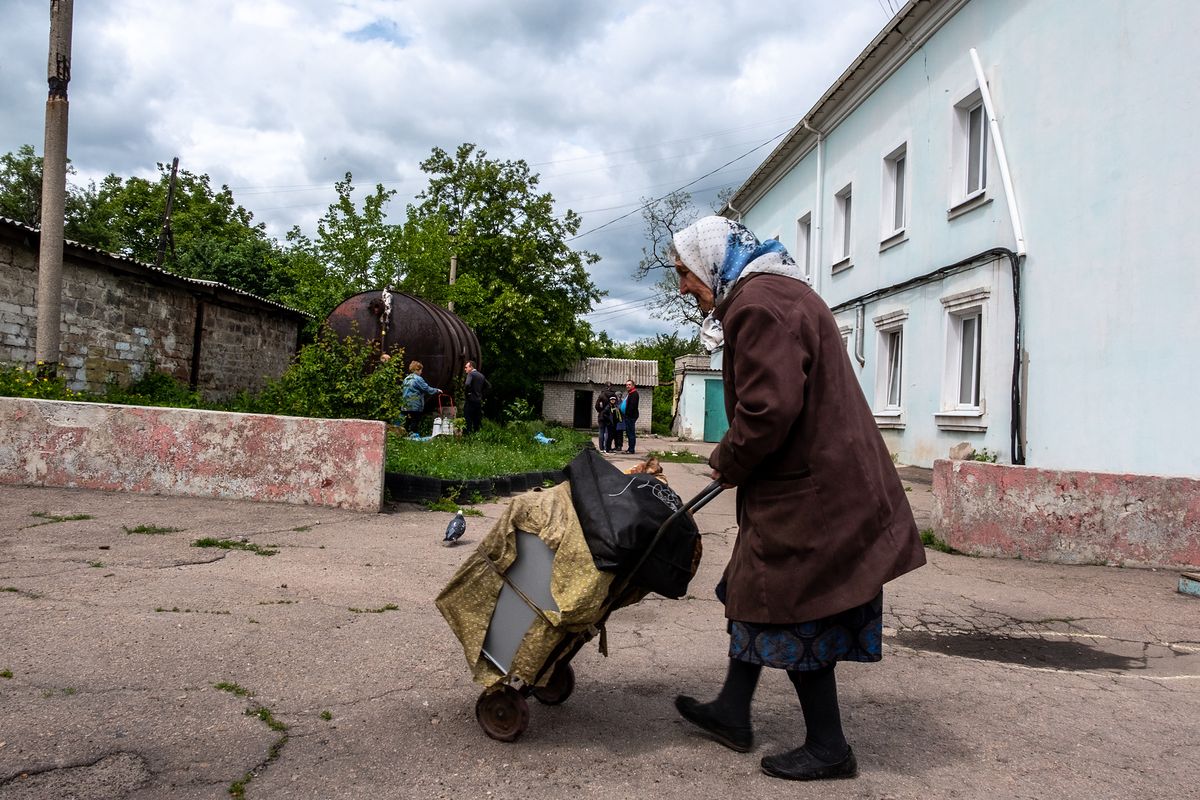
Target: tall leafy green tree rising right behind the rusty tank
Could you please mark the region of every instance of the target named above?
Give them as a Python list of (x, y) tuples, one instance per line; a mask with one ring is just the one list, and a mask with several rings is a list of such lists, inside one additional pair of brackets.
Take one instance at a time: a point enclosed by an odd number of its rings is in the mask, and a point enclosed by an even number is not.
[(541, 379), (577, 361), (592, 338), (582, 314), (601, 296), (587, 270), (599, 257), (568, 245), (580, 216), (558, 215), (524, 161), (490, 160), (473, 144), (454, 155), (434, 148), (421, 169), (430, 184), (408, 209), (400, 288), (455, 303), (479, 337), (491, 410), (536, 404)]

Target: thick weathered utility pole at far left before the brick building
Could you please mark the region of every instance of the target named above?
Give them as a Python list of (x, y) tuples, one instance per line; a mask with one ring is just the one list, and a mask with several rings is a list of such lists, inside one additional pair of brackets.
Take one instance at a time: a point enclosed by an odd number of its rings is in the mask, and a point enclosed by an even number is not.
[(37, 255), (38, 372), (58, 374), (62, 349), (62, 224), (67, 192), (67, 83), (74, 0), (50, 0), (46, 146), (42, 154), (42, 231)]

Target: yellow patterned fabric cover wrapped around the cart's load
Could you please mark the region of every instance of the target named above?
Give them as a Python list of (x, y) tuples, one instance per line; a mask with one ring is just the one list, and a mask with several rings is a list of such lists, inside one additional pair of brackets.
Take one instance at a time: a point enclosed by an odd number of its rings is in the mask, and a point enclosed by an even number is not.
[[(596, 570), (592, 560), (583, 529), (571, 505), (569, 483), (515, 497), (504, 516), (463, 561), (436, 601), (450, 630), (462, 643), (472, 679), (486, 687), (505, 678), (496, 664), (482, 656), (484, 638), (504, 584), (486, 559), (490, 558), (502, 572), (508, 571), (516, 558), (517, 530), (534, 534), (554, 553), (550, 591), (558, 603), (557, 612), (542, 609), (553, 625), (534, 616), (517, 649), (511, 674), (521, 680), (534, 682), (563, 638), (587, 630), (604, 615), (604, 602), (613, 579), (611, 573)], [(548, 678), (550, 670), (541, 684)]]

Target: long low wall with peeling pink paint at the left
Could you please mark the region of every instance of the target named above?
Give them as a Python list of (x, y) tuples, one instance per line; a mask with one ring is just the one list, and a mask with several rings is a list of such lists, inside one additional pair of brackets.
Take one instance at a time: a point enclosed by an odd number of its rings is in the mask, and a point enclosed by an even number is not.
[(0, 397), (0, 483), (378, 511), (385, 426)]

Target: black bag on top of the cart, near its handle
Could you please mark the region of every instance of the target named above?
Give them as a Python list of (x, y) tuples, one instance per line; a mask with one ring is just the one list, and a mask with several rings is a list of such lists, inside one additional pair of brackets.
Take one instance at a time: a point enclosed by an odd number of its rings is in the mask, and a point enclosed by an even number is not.
[[(662, 481), (650, 475), (626, 475), (590, 447), (564, 471), (592, 560), (604, 572), (629, 575), (662, 523), (683, 507), (679, 495)], [(695, 575), (698, 554), (700, 529), (690, 515), (680, 515), (630, 583), (664, 597), (682, 597)]]

